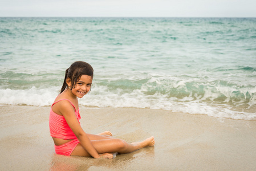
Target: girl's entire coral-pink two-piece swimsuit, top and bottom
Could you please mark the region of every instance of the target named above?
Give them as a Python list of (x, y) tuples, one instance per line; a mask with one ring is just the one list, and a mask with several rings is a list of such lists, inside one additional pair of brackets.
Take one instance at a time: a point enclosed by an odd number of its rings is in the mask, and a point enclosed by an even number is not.
[[(61, 99), (61, 100), (68, 100), (68, 99)], [(54, 105), (55, 103), (58, 103), (61, 100), (54, 102), (52, 105)], [(70, 100), (68, 101), (71, 103)], [(72, 104), (72, 106), (75, 108), (74, 104)], [(75, 111), (75, 115), (79, 122), (79, 120), (81, 119), (79, 108), (77, 111)], [(71, 140), (68, 143), (65, 143), (62, 145), (58, 145), (58, 146), (54, 145), (55, 153), (65, 155), (65, 156), (70, 156), (70, 154), (75, 149), (76, 145), (78, 145), (79, 140), (75, 136), (74, 132), (72, 132), (71, 128), (68, 126), (64, 116), (56, 114), (54, 111), (52, 111), (52, 108), (50, 111), (49, 126), (50, 126), (50, 134), (52, 137), (58, 138), (58, 139), (64, 139), (64, 140)]]

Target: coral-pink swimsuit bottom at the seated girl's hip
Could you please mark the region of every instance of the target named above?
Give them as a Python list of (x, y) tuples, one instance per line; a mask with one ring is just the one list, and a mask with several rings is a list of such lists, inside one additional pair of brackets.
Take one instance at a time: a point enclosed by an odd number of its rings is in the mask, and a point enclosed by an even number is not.
[(76, 148), (76, 145), (78, 145), (78, 143), (79, 140), (74, 139), (62, 145), (54, 145), (55, 153), (64, 156), (70, 156), (73, 150)]

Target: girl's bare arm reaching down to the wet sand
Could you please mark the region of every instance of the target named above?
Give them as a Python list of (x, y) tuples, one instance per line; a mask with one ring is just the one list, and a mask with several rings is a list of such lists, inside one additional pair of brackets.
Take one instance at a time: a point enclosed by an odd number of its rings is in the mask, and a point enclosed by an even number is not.
[(72, 105), (68, 101), (64, 101), (64, 100), (60, 101), (59, 104), (60, 104), (59, 112), (62, 113), (62, 115), (67, 121), (67, 124), (70, 126), (71, 130), (75, 133), (76, 137), (78, 137), (78, 140), (80, 141), (80, 144), (83, 146), (83, 148), (86, 149), (87, 152), (90, 153), (92, 157), (100, 158), (101, 155), (97, 153), (96, 149), (91, 143), (91, 140), (88, 138), (86, 132), (83, 131), (78, 120), (76, 119), (75, 111)]

